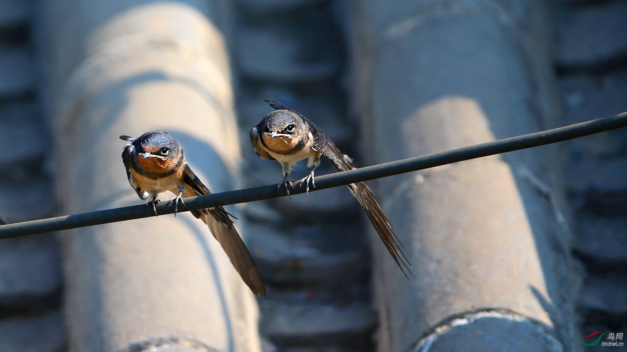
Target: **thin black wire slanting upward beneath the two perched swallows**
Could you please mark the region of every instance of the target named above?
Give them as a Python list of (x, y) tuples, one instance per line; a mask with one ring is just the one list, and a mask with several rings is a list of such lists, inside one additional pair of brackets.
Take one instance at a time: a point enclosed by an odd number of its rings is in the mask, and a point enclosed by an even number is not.
[[(626, 126), (627, 113), (621, 113), (597, 120), (577, 123), (575, 125), (554, 128), (553, 130), (529, 133), (528, 135), (470, 145), (469, 147), (423, 155), (422, 157), (408, 158), (345, 172), (332, 173), (330, 175), (316, 177), (315, 188), (310, 189), (310, 192), (354, 184), (356, 182), (380, 179), (381, 177), (399, 175), (401, 173), (423, 170), (424, 168), (461, 162), (463, 160), (487, 157), (488, 155), (514, 152), (515, 150), (563, 142), (565, 140), (593, 135), (594, 133)], [(291, 194), (301, 194), (305, 192), (304, 186), (295, 185), (294, 188), (294, 190), (290, 191)], [(277, 185), (232, 190), (229, 192), (186, 198), (185, 204), (179, 203), (179, 212), (216, 207), (218, 205), (254, 202), (256, 200), (285, 197), (285, 195), (287, 195), (285, 194), (285, 190), (278, 189)], [(172, 214), (173, 212), (174, 207), (167, 203), (157, 205), (157, 214), (159, 215)], [(131, 207), (98, 210), (96, 212), (52, 217), (50, 219), (18, 222), (16, 224), (0, 226), (0, 239), (76, 229), (78, 227), (102, 225), (110, 222), (141, 219), (152, 216), (154, 216), (152, 207), (133, 205)]]

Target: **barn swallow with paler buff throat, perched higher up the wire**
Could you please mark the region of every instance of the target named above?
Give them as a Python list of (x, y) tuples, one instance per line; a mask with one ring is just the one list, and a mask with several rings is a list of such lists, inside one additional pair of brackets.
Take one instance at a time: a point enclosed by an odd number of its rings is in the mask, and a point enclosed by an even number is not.
[[(292, 182), (287, 177), (293, 165), (303, 159), (307, 159), (307, 167), (311, 168), (311, 172), (299, 181), (300, 184), (305, 183), (307, 194), (309, 184), (315, 187), (314, 172), (315, 168), (320, 165), (320, 155), (329, 159), (340, 172), (355, 168), (352, 159), (340, 152), (332, 140), (305, 116), (276, 101), (264, 101), (275, 111), (266, 115), (250, 130), (250, 140), (255, 147), (255, 152), (262, 159), (277, 160), (281, 163), (285, 177), (277, 187), (283, 185), (287, 194), (290, 194), (289, 187), (292, 186)], [(405, 269), (413, 276), (409, 269), (411, 264), (403, 252), (403, 244), (396, 237), (392, 225), (370, 187), (364, 182), (350, 184), (348, 187), (350, 193), (357, 198), (366, 211), (368, 219), (405, 277), (408, 277)]]

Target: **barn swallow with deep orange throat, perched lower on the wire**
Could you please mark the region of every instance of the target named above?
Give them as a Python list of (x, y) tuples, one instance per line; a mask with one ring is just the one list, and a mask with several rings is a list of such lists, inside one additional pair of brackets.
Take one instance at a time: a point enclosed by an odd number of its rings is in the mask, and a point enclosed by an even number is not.
[[(168, 133), (150, 131), (139, 138), (120, 136), (120, 139), (130, 142), (122, 152), (129, 183), (140, 199), (150, 199), (148, 204), (152, 204), (155, 215), (157, 195), (166, 190), (176, 195), (170, 200), (171, 204), (174, 203), (175, 215), (182, 197), (211, 194), (187, 165), (183, 148)], [(229, 217), (234, 216), (224, 210), (224, 207), (190, 212), (209, 226), (213, 237), (220, 242), (231, 264), (251, 291), (265, 297), (266, 288), (259, 269)]]

